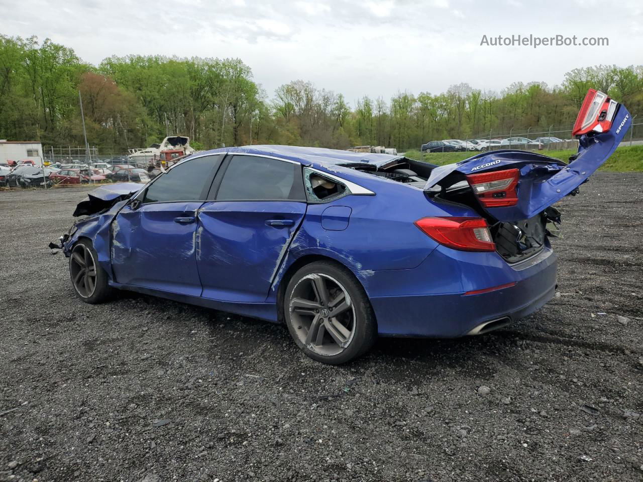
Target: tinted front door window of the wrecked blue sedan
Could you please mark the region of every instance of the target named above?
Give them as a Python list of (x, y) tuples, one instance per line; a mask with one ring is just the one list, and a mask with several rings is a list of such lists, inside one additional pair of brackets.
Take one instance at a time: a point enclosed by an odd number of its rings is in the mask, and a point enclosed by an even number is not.
[(221, 157), (197, 157), (170, 169), (147, 188), (143, 202), (203, 201), (203, 190), (210, 188)]

